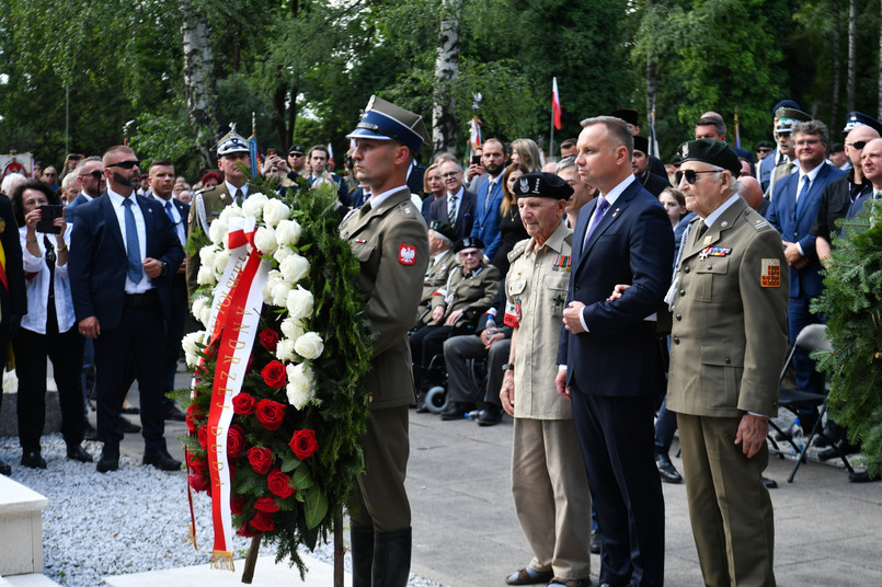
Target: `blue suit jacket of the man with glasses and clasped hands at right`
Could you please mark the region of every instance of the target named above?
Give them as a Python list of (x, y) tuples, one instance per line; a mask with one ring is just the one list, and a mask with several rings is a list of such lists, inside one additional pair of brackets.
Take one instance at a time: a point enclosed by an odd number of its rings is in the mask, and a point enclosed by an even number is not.
[(799, 173), (790, 173), (775, 184), (775, 196), (771, 198), (771, 205), (766, 214), (766, 219), (778, 230), (781, 239), (800, 243), (803, 254), (809, 257), (809, 265), (802, 269), (790, 267), (791, 298), (814, 298), (824, 289), (824, 278), (820, 273), (822, 267), (815, 251), (815, 237), (812, 234), (812, 225), (817, 218), (821, 195), (824, 189), (831, 182), (841, 177), (846, 172), (834, 168), (826, 161), (821, 165), (815, 181), (809, 187), (806, 196), (809, 202), (802, 206), (799, 218), (797, 218)]

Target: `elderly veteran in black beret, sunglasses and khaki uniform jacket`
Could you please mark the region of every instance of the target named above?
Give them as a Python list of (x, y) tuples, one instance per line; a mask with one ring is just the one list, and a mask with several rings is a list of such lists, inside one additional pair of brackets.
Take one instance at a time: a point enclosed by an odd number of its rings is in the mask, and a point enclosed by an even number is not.
[(666, 297), (674, 314), (667, 408), (677, 413), (689, 516), (706, 585), (775, 585), (763, 484), (768, 419), (787, 353), (781, 237), (737, 194), (726, 143), (680, 146), (684, 235)]

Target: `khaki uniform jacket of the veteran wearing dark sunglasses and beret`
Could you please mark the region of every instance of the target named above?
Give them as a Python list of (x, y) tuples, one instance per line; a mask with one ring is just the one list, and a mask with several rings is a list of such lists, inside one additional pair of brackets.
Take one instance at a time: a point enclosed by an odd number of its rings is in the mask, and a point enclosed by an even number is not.
[(667, 408), (776, 416), (788, 347), (781, 238), (741, 198), (701, 237), (698, 220), (675, 274)]

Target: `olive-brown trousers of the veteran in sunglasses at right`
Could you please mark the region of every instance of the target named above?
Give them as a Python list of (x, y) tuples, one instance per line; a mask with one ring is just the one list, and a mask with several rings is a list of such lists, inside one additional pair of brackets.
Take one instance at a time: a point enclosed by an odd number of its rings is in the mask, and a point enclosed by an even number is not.
[(689, 518), (705, 585), (775, 587), (775, 523), (763, 484), (768, 448), (735, 445), (741, 417), (677, 414)]

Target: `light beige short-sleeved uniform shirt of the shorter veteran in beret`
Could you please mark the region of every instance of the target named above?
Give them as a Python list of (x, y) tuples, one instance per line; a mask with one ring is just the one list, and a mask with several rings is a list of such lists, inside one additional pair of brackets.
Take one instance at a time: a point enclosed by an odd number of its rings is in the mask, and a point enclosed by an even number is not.
[[(573, 231), (561, 222), (538, 253), (536, 241), (508, 253), (506, 323), (515, 315), (515, 417), (572, 419), (572, 404), (558, 395), (558, 342), (570, 283)], [(511, 315), (509, 315), (511, 314)]]

